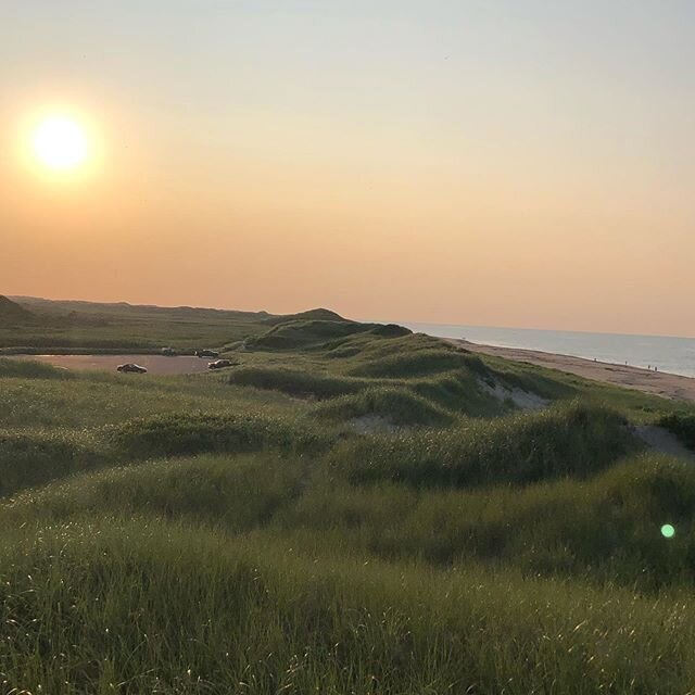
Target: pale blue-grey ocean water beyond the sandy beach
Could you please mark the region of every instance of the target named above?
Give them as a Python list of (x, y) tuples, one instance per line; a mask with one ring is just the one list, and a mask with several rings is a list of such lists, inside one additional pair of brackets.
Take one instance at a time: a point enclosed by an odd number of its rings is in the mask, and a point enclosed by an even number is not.
[(633, 367), (652, 366), (657, 367), (659, 371), (695, 377), (695, 338), (444, 324), (401, 325), (441, 338), (464, 338), (485, 345), (539, 350), (622, 365), (627, 362)]

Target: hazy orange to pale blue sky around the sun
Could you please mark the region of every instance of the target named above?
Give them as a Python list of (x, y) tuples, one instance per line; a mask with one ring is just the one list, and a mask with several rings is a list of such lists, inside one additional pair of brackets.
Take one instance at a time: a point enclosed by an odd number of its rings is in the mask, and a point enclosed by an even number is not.
[(694, 66), (692, 0), (3, 0), (0, 293), (695, 336)]

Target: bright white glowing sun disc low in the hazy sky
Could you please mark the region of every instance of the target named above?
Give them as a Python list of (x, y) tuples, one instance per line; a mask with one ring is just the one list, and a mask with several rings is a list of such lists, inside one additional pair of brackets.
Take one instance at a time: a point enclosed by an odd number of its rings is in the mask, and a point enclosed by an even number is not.
[(54, 172), (76, 169), (89, 154), (85, 129), (74, 118), (58, 114), (39, 123), (33, 144), (38, 161)]

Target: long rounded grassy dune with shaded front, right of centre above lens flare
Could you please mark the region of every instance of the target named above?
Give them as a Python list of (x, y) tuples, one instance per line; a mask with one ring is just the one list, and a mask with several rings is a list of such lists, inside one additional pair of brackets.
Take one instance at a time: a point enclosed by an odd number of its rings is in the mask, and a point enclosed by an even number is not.
[(635, 447), (618, 415), (570, 404), (498, 420), (469, 420), (442, 432), (345, 442), (333, 453), (331, 464), (359, 483), (526, 484), (566, 476), (585, 478)]

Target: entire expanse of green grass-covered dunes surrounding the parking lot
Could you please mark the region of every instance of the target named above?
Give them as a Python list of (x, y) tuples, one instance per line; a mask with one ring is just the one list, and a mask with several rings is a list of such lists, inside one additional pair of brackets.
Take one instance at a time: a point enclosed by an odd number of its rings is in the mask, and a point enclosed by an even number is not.
[(0, 358), (0, 693), (695, 683), (695, 468), (634, 434), (692, 446), (686, 404), (326, 309), (23, 307), (23, 340), (128, 325), (237, 364)]

